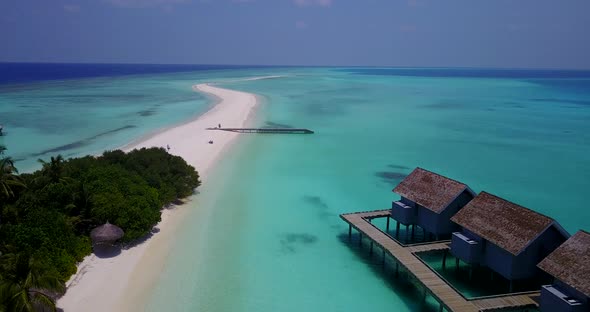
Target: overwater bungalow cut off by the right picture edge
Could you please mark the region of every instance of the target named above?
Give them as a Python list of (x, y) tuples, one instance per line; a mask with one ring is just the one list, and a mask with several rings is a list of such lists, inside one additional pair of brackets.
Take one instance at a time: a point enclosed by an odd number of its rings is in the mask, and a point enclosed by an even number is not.
[(555, 278), (541, 289), (542, 312), (590, 310), (590, 233), (578, 231), (538, 267)]

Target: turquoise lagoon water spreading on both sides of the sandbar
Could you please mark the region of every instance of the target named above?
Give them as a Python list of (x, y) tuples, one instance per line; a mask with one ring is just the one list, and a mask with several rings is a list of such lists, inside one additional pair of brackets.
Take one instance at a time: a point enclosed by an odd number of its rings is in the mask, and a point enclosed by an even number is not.
[[(272, 74), (285, 77), (236, 80)], [(51, 147), (91, 138), (65, 154), (93, 153), (197, 116), (211, 105), (190, 90), (200, 81), (259, 94), (264, 98), (259, 125), (306, 127), (316, 133), (240, 139), (205, 181), (195, 207), (187, 207), (195, 212), (178, 228), (145, 308), (435, 311), (433, 302), (420, 303), (407, 281), (384, 272), (380, 257), (348, 244), (348, 228), (338, 215), (389, 207), (395, 199), (391, 189), (421, 166), (547, 214), (570, 233), (590, 229), (584, 200), (590, 187), (589, 76), (236, 69), (29, 84), (1, 91), (0, 109), (1, 116), (11, 109), (13, 116), (27, 115), (25, 107), (8, 108), (7, 101), (26, 103), (48, 94), (79, 99), (81, 92), (94, 101), (93, 95), (101, 95), (101, 107), (92, 105), (96, 114), (84, 117), (83, 123), (91, 125), (84, 133), (38, 130), (31, 117), (18, 117), (23, 118), (22, 138), (16, 138), (14, 129), (15, 138), (11, 133), (5, 144), (10, 154), (25, 157), (22, 163), (32, 166), (38, 157), (26, 155)], [(111, 94), (118, 104), (111, 102)], [(128, 94), (138, 96), (125, 98)], [(42, 101), (31, 102), (48, 109)], [(47, 112), (55, 119), (39, 120), (59, 125), (81, 115), (71, 108), (56, 104)], [(141, 114), (150, 109), (155, 112)], [(82, 121), (74, 126), (78, 123)], [(95, 137), (126, 125), (135, 127)]]

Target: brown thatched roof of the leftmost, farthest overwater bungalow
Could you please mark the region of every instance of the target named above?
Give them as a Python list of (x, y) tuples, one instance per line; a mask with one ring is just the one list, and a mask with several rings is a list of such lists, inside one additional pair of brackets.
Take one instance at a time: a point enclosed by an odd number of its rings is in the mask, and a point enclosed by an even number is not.
[(441, 213), (466, 189), (467, 185), (461, 182), (418, 167), (400, 182), (393, 192)]

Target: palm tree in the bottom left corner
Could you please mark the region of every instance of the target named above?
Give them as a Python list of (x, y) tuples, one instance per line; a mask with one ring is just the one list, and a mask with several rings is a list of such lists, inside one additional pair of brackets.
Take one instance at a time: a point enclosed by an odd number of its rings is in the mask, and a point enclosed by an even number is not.
[(64, 284), (39, 262), (25, 254), (7, 254), (0, 261), (0, 311), (57, 311), (52, 294), (61, 294)]

